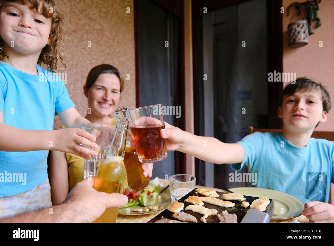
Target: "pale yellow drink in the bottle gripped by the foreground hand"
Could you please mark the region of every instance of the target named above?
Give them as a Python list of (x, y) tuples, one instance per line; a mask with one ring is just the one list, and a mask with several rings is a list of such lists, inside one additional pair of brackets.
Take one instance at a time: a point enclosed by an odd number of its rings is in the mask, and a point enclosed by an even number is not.
[[(94, 189), (106, 193), (123, 193), (126, 180), (126, 170), (123, 158), (120, 156), (108, 157), (98, 167), (94, 180)], [(118, 208), (109, 208), (93, 223), (115, 223)]]

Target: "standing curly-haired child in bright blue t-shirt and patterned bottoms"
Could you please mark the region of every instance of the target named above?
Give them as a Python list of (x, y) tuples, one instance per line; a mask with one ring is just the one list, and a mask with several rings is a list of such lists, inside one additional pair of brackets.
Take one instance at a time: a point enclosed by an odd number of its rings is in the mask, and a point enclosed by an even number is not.
[[(81, 130), (90, 121), (50, 72), (64, 65), (64, 17), (53, 0), (39, 3), (0, 1), (0, 218), (51, 206), (48, 150), (97, 156), (82, 146), (97, 148)], [(55, 114), (67, 129), (52, 131)]]

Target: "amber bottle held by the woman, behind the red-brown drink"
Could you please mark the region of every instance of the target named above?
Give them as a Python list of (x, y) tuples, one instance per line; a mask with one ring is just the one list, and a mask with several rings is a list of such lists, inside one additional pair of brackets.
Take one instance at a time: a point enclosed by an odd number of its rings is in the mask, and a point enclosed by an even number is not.
[(128, 131), (124, 165), (127, 172), (128, 186), (133, 190), (145, 189), (150, 183), (150, 177), (143, 175), (142, 163), (138, 159), (137, 151), (131, 142), (131, 132)]

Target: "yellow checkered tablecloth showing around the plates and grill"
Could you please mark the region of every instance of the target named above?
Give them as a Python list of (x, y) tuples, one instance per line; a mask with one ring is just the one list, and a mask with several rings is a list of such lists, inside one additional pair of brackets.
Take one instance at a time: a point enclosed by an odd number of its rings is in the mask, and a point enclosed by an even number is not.
[[(163, 183), (163, 186), (166, 187), (169, 184), (168, 180), (164, 180), (159, 178), (159, 182)], [(215, 191), (220, 191), (220, 192), (227, 192), (225, 190), (222, 189), (217, 189), (217, 188), (212, 188), (212, 187), (205, 187), (205, 186), (200, 186), (200, 185), (196, 185), (196, 188), (206, 188), (206, 189), (211, 189), (211, 190), (215, 190)], [(160, 214), (162, 211), (160, 212), (155, 212), (152, 214), (148, 214), (148, 215), (118, 215), (117, 216), (117, 220), (116, 223), (146, 223), (148, 221), (150, 221), (151, 219), (153, 219), (154, 217), (156, 217), (158, 214)], [(297, 220), (300, 223), (308, 223), (309, 220), (301, 215), (297, 218), (293, 218), (293, 219), (289, 219), (289, 220), (279, 220), (279, 221), (270, 221), (270, 223), (289, 223), (292, 222), (294, 220)]]

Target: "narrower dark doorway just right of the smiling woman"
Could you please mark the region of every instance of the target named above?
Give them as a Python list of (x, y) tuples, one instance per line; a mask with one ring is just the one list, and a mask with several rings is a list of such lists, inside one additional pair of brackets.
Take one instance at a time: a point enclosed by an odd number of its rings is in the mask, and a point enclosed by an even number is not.
[[(175, 2), (173, 4), (173, 2)], [(181, 107), (181, 117), (164, 115), (166, 122), (184, 129), (183, 19), (180, 1), (136, 0), (137, 107), (162, 103)], [(154, 164), (152, 177), (165, 178), (183, 170), (183, 155), (169, 151)]]

